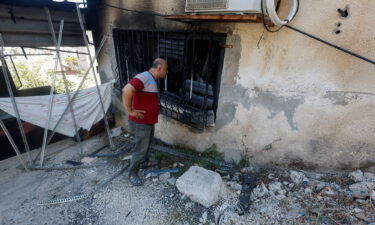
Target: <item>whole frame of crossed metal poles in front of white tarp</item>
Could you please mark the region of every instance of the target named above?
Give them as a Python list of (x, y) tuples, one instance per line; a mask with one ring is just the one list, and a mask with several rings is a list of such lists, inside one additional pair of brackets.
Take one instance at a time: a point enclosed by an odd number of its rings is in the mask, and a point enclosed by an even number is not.
[[(10, 86), (10, 81), (9, 81), (9, 77), (8, 77), (8, 73), (7, 73), (7, 69), (6, 69), (6, 66), (7, 66), (7, 63), (5, 61), (5, 57), (6, 56), (4, 55), (4, 41), (3, 41), (2, 36), (0, 34), (0, 60), (1, 60), (1, 63), (3, 65), (2, 66), (3, 74), (4, 74), (4, 77), (5, 77), (5, 81), (6, 81), (8, 93), (9, 93), (9, 96), (11, 98), (14, 111), (16, 112), (16, 118), (17, 118), (17, 122), (18, 122), (19, 129), (20, 129), (20, 132), (21, 132), (22, 141), (24, 143), (24, 146), (25, 146), (25, 149), (26, 149), (26, 152), (27, 152), (27, 156), (28, 156), (28, 159), (29, 159), (29, 166), (27, 166), (25, 164), (25, 162), (24, 162), (24, 160), (22, 158), (22, 155), (21, 155), (19, 149), (15, 145), (15, 143), (13, 141), (13, 138), (10, 136), (9, 132), (7, 132), (8, 130), (5, 127), (5, 125), (4, 125), (4, 123), (2, 121), (0, 121), (0, 126), (4, 130), (4, 132), (5, 132), (8, 140), (10, 141), (10, 143), (11, 143), (14, 151), (16, 152), (16, 154), (17, 154), (17, 156), (18, 156), (21, 164), (23, 165), (23, 167), (25, 168), (26, 171), (28, 171), (29, 169), (48, 169), (48, 170), (51, 170), (51, 169), (60, 169), (60, 168), (57, 168), (57, 167), (56, 168), (51, 168), (51, 167), (45, 168), (45, 167), (43, 167), (43, 162), (44, 162), (44, 156), (45, 156), (46, 148), (47, 148), (48, 144), (50, 143), (50, 141), (52, 140), (53, 135), (55, 134), (56, 128), (61, 123), (63, 116), (65, 115), (65, 113), (68, 110), (71, 112), (71, 116), (72, 116), (72, 119), (73, 119), (73, 122), (74, 122), (75, 132), (76, 132), (76, 134), (78, 136), (78, 142), (79, 142), (79, 145), (80, 145), (81, 157), (82, 157), (83, 148), (82, 148), (80, 137), (79, 137), (79, 133), (78, 133), (77, 121), (76, 121), (75, 115), (74, 115), (73, 102), (74, 102), (75, 98), (77, 97), (78, 92), (82, 88), (82, 86), (84, 84), (84, 81), (86, 80), (86, 78), (87, 78), (87, 76), (88, 76), (88, 74), (89, 74), (89, 72), (91, 70), (93, 71), (95, 85), (96, 85), (96, 90), (97, 90), (97, 93), (98, 93), (98, 96), (99, 96), (99, 99), (100, 99), (101, 109), (102, 109), (103, 117), (104, 117), (103, 119), (104, 119), (104, 122), (105, 122), (105, 128), (106, 128), (106, 133), (108, 135), (109, 143), (110, 143), (110, 146), (111, 146), (111, 148), (113, 150), (115, 148), (113, 140), (112, 140), (112, 136), (110, 134), (109, 125), (108, 125), (108, 121), (107, 121), (107, 118), (106, 118), (106, 112), (105, 112), (103, 101), (102, 101), (102, 96), (101, 96), (101, 93), (100, 93), (100, 90), (99, 90), (98, 81), (97, 81), (95, 70), (94, 70), (94, 67), (93, 67), (94, 66), (94, 62), (96, 61), (96, 59), (98, 57), (98, 54), (100, 53), (100, 51), (101, 51), (104, 43), (108, 40), (108, 36), (107, 35), (103, 36), (102, 41), (101, 41), (101, 43), (100, 43), (100, 45), (99, 45), (99, 47), (98, 47), (98, 49), (96, 51), (96, 54), (94, 55), (94, 57), (91, 57), (91, 53), (90, 53), (90, 49), (89, 49), (89, 43), (88, 43), (88, 40), (87, 40), (87, 37), (86, 37), (86, 30), (85, 30), (84, 25), (83, 25), (83, 20), (82, 20), (82, 16), (81, 16), (81, 13), (80, 13), (80, 9), (79, 9), (78, 5), (76, 5), (76, 6), (77, 6), (76, 7), (76, 9), (77, 9), (77, 16), (78, 16), (78, 19), (79, 19), (79, 22), (80, 22), (80, 26), (81, 26), (81, 29), (82, 29), (82, 36), (83, 36), (83, 39), (85, 41), (85, 45), (86, 45), (86, 48), (87, 48), (87, 53), (81, 53), (81, 52), (79, 52), (79, 53), (78, 52), (74, 52), (74, 53), (77, 53), (77, 54), (87, 54), (89, 56), (89, 58), (90, 58), (90, 66), (89, 66), (89, 69), (86, 71), (85, 75), (82, 77), (82, 80), (81, 80), (80, 84), (78, 85), (78, 88), (77, 88), (76, 92), (73, 94), (73, 96), (70, 96), (70, 90), (69, 90), (68, 85), (67, 85), (67, 80), (66, 80), (66, 76), (65, 76), (65, 73), (64, 73), (64, 69), (63, 69), (63, 66), (62, 66), (62, 60), (61, 60), (61, 56), (60, 56), (60, 52), (66, 52), (66, 51), (60, 50), (61, 39), (62, 39), (62, 34), (63, 34), (64, 21), (61, 20), (61, 22), (60, 22), (59, 36), (58, 36), (58, 40), (56, 40), (56, 35), (55, 35), (54, 28), (53, 28), (52, 19), (51, 19), (51, 15), (50, 15), (49, 9), (45, 8), (45, 12), (46, 12), (47, 19), (48, 19), (48, 25), (49, 25), (49, 28), (50, 28), (52, 40), (53, 40), (53, 43), (55, 45), (55, 49), (46, 49), (46, 50), (55, 51), (56, 61), (55, 61), (55, 66), (54, 66), (53, 78), (52, 78), (52, 88), (51, 88), (51, 92), (50, 92), (50, 102), (49, 102), (49, 105), (48, 105), (48, 107), (49, 107), (48, 108), (49, 109), (48, 115), (49, 116), (47, 118), (48, 120), (46, 121), (46, 127), (45, 127), (45, 130), (44, 130), (43, 145), (42, 145), (42, 148), (41, 148), (40, 152), (37, 155), (37, 157), (39, 157), (39, 155), (40, 155), (40, 167), (34, 166), (33, 165), (33, 161), (31, 159), (29, 145), (28, 145), (28, 142), (27, 142), (27, 139), (26, 139), (25, 132), (24, 132), (23, 127), (22, 127), (22, 123), (21, 123), (19, 111), (18, 111), (18, 108), (17, 108), (17, 102), (16, 102), (16, 99), (14, 97), (13, 91), (12, 91), (11, 86)], [(25, 57), (26, 57), (26, 54), (25, 54)], [(12, 60), (12, 63), (13, 63), (13, 60)], [(59, 118), (57, 124), (52, 129), (51, 134), (48, 136), (48, 130), (49, 130), (48, 128), (49, 128), (49, 124), (50, 124), (50, 120), (51, 120), (51, 113), (52, 113), (52, 108), (53, 108), (53, 90), (54, 90), (54, 86), (55, 86), (56, 70), (57, 70), (58, 64), (60, 64), (60, 67), (61, 67), (61, 70), (62, 70), (62, 75), (63, 75), (63, 79), (64, 79), (64, 85), (65, 85), (65, 91), (67, 93), (67, 98), (68, 98), (68, 105), (64, 109), (64, 112), (62, 113), (61, 117)]]

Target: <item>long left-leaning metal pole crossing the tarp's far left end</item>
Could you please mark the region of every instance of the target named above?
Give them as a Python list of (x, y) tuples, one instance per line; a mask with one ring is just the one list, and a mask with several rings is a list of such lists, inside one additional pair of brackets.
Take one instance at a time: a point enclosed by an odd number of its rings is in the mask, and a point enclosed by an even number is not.
[(31, 166), (32, 165), (32, 160), (31, 160), (31, 155), (30, 155), (30, 148), (29, 148), (29, 144), (28, 144), (27, 139), (26, 139), (25, 131), (23, 130), (23, 126), (22, 126), (22, 122), (21, 122), (21, 119), (20, 119), (20, 113), (18, 111), (16, 99), (14, 98), (12, 87), (10, 86), (8, 72), (7, 72), (7, 69), (6, 69), (6, 62), (5, 62), (5, 58), (4, 58), (4, 40), (3, 40), (3, 37), (2, 37), (1, 34), (0, 34), (0, 47), (1, 47), (0, 48), (0, 60), (1, 60), (1, 64), (2, 64), (2, 69), (3, 69), (4, 78), (5, 78), (5, 83), (7, 85), (9, 97), (10, 97), (10, 99), (12, 101), (14, 112), (16, 113), (18, 127), (20, 129), (22, 140), (23, 140), (23, 144), (25, 146), (26, 154), (27, 154), (27, 157), (29, 159), (30, 166)]

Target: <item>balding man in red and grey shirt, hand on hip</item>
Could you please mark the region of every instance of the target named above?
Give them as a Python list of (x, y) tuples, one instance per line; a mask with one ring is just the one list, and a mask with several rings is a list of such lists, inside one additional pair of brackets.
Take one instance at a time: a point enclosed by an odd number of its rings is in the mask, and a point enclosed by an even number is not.
[(122, 101), (136, 142), (129, 166), (129, 179), (134, 186), (142, 185), (138, 171), (141, 163), (148, 160), (154, 127), (158, 122), (159, 90), (156, 81), (165, 78), (167, 73), (167, 61), (157, 58), (148, 71), (136, 75), (122, 89)]

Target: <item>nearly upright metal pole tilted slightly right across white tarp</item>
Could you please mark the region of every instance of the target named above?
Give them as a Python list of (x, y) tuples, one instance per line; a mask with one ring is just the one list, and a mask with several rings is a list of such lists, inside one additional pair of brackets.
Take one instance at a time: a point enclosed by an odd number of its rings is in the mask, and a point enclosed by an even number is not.
[[(64, 27), (64, 20), (61, 20), (60, 30), (59, 30), (59, 40), (58, 40), (58, 43), (56, 45), (57, 50), (60, 49), (63, 27)], [(56, 39), (56, 37), (55, 37), (55, 39)], [(51, 86), (51, 91), (49, 93), (50, 98), (49, 98), (49, 103), (48, 103), (48, 119), (46, 121), (46, 126), (44, 127), (43, 145), (42, 145), (42, 151), (41, 151), (41, 154), (40, 154), (40, 166), (43, 166), (43, 162), (44, 162), (44, 153), (46, 151), (46, 146), (47, 146), (48, 129), (49, 129), (49, 124), (51, 122), (51, 117), (52, 117), (53, 97), (54, 97), (53, 92), (55, 90), (57, 64), (58, 64), (58, 57), (57, 57), (57, 52), (56, 52), (55, 66), (53, 68), (53, 75), (52, 75), (52, 86)]]

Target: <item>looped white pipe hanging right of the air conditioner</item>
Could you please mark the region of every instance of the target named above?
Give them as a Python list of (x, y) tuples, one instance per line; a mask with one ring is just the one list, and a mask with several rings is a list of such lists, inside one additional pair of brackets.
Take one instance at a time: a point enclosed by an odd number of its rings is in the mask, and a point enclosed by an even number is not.
[(281, 20), (276, 13), (275, 0), (265, 0), (268, 16), (270, 17), (272, 23), (274, 23), (276, 26), (281, 27), (286, 25), (296, 15), (298, 9), (298, 0), (290, 0), (290, 2), (292, 6), (290, 7), (289, 14), (284, 20)]

